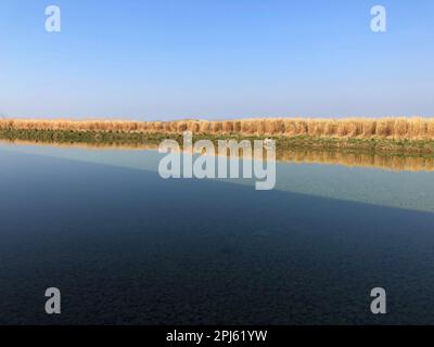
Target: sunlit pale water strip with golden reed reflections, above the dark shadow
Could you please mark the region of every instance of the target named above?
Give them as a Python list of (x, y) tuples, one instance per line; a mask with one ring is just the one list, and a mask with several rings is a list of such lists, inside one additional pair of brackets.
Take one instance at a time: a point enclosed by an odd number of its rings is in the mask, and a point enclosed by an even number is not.
[[(156, 151), (156, 144), (99, 146), (77, 143), (35, 145), (31, 142), (18, 142), (0, 144), (0, 150), (154, 174), (164, 156)], [(275, 190), (376, 206), (434, 211), (434, 164), (431, 157), (308, 150), (279, 150), (278, 154)], [(218, 180), (251, 185), (251, 190), (255, 190), (253, 179)], [(186, 180), (182, 181), (186, 183)]]

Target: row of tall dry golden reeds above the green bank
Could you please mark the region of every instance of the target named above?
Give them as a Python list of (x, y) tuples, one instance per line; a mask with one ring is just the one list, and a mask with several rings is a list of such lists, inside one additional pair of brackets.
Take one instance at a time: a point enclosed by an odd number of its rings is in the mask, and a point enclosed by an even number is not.
[(143, 133), (193, 133), (283, 136), (320, 138), (391, 138), (434, 140), (434, 118), (253, 118), (232, 120), (68, 120), (0, 119), (0, 129), (119, 131)]

